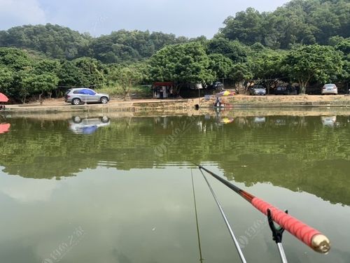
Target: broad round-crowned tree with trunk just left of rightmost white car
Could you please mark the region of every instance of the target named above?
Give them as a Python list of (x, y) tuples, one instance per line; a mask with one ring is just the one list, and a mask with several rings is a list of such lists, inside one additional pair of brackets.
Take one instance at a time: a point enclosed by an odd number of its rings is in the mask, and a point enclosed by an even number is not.
[(281, 63), (291, 79), (297, 80), (305, 93), (309, 81), (321, 83), (334, 80), (342, 71), (342, 55), (330, 46), (305, 45), (291, 50)]

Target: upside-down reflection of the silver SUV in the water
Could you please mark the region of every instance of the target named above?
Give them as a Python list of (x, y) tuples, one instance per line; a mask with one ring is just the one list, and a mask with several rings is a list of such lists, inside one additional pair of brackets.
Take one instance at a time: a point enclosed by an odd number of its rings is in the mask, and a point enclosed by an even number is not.
[(99, 118), (85, 118), (74, 116), (69, 120), (69, 129), (75, 134), (92, 134), (99, 127), (109, 126), (111, 124), (107, 116)]

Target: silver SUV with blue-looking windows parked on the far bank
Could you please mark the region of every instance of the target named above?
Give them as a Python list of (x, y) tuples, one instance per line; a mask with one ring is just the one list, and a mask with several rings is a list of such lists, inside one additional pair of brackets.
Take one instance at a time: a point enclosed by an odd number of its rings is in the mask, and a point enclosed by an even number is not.
[(109, 94), (97, 93), (94, 90), (87, 87), (73, 88), (66, 91), (64, 94), (64, 101), (73, 105), (79, 105), (81, 103), (93, 103), (100, 102), (106, 104), (109, 102)]

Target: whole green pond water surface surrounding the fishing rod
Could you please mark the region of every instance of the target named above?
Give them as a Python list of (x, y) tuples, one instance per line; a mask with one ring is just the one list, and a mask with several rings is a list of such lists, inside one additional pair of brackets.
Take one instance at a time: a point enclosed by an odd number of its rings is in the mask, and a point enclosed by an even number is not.
[[(289, 262), (350, 262), (350, 117), (1, 117), (0, 262), (239, 262), (204, 165), (323, 232)], [(9, 125), (8, 125), (9, 124)], [(247, 262), (280, 262), (267, 220), (207, 176)]]

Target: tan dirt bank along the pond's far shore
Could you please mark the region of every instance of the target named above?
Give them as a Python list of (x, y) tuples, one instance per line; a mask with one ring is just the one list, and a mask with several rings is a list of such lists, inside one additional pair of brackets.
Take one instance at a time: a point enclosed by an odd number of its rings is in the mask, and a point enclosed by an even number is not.
[[(220, 97), (221, 102), (226, 106), (235, 108), (248, 108), (253, 111), (254, 108), (350, 108), (349, 95), (289, 95), (289, 96), (248, 96), (234, 95), (231, 97)], [(6, 105), (6, 109), (0, 113), (76, 113), (76, 112), (125, 112), (125, 113), (145, 113), (166, 112), (166, 113), (191, 113), (195, 108), (201, 110), (212, 109), (215, 96), (210, 98), (194, 99), (133, 99), (131, 101), (120, 101), (112, 99), (109, 104), (82, 104), (72, 106), (66, 104), (64, 99), (46, 99), (39, 103), (38, 101), (29, 104)], [(255, 110), (254, 110), (255, 111)], [(270, 110), (272, 111), (272, 110)], [(273, 111), (276, 111), (274, 109)], [(295, 110), (293, 110), (295, 111)], [(135, 114), (133, 114), (135, 115)]]

